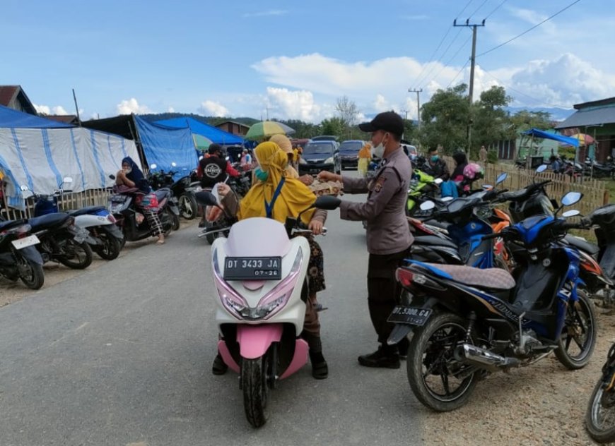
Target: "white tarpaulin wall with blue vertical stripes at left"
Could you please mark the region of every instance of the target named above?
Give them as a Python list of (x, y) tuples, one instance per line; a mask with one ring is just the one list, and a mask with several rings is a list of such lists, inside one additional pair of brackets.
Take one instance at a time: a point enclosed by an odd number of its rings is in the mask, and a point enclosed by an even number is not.
[(71, 176), (74, 192), (110, 187), (109, 175), (127, 156), (141, 166), (134, 141), (88, 128), (0, 128), (6, 203), (20, 210), (25, 208), (20, 186), (48, 194)]

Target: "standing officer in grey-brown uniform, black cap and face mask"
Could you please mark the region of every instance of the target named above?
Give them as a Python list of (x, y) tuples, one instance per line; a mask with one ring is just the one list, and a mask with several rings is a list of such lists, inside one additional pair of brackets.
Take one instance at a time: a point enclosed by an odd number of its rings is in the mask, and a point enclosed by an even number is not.
[(402, 289), (395, 270), (409, 254), (414, 241), (406, 220), (406, 200), (412, 176), (410, 159), (399, 143), (404, 121), (394, 111), (380, 113), (359, 128), (372, 134), (372, 155), (382, 159), (373, 178), (351, 178), (322, 171), (323, 181), (342, 181), (345, 193), (367, 193), (365, 203), (342, 200), (342, 219), (367, 222), (368, 309), (380, 346), (377, 351), (358, 357), (361, 366), (399, 368), (399, 351), (405, 356), (408, 340), (387, 345), (393, 325), (389, 314), (399, 302)]

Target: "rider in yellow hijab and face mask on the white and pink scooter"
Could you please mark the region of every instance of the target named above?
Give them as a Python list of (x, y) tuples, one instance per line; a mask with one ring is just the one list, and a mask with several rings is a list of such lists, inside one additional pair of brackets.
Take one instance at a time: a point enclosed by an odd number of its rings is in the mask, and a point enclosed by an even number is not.
[[(259, 167), (255, 169), (256, 183), (238, 203), (238, 197), (227, 184), (218, 186), (218, 195), (222, 203), (238, 219), (250, 217), (267, 217), (286, 222), (286, 217), (296, 217), (300, 211), (309, 207), (316, 200), (316, 195), (305, 184), (288, 176), (286, 167), (288, 156), (271, 141), (259, 144), (254, 149)], [(279, 188), (280, 183), (282, 186)], [(276, 190), (279, 188), (279, 193)], [(310, 210), (301, 215), (302, 222), (313, 234), (320, 234), (327, 218), (327, 211)], [(317, 291), (324, 289), (324, 263), (322, 249), (312, 236), (307, 237), (310, 243), (310, 263), (307, 265), (307, 276), (310, 294), (305, 306), (305, 321), (301, 337), (310, 346), (310, 361), (312, 376), (317, 380), (327, 378), (329, 368), (322, 356), (320, 342), (320, 321), (313, 303)], [(212, 371), (216, 375), (226, 372), (227, 366), (220, 354), (213, 361)]]

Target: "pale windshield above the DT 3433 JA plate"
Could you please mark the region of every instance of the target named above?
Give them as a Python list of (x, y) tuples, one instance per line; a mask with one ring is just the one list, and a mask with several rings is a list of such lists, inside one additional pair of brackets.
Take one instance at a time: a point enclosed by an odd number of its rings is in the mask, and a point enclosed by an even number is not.
[(283, 257), (290, 251), (284, 225), (277, 220), (254, 217), (233, 224), (226, 242), (230, 257)]

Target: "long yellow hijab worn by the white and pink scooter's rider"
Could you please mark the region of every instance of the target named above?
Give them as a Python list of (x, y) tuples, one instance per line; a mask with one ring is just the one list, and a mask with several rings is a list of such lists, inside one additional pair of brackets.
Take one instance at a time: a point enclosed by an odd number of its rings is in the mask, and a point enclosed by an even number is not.
[[(297, 179), (286, 176), (288, 157), (276, 143), (267, 141), (260, 143), (254, 149), (254, 155), (261, 169), (269, 176), (266, 181), (257, 181), (240, 203), (239, 219), (250, 217), (266, 217), (265, 202), (271, 203), (276, 188), (282, 178), (284, 184), (274, 203), (271, 217), (281, 223), (286, 217), (297, 217), (299, 212), (309, 207), (316, 200), (316, 195), (305, 184)], [(308, 210), (301, 215), (301, 220), (308, 224), (314, 215), (314, 210)]]

